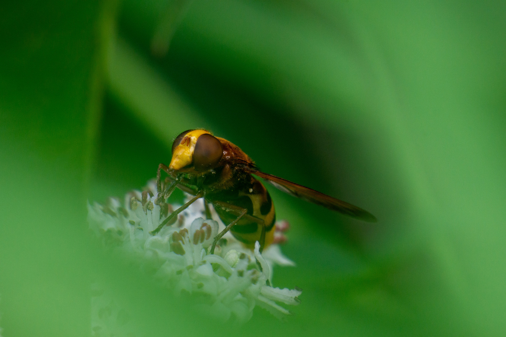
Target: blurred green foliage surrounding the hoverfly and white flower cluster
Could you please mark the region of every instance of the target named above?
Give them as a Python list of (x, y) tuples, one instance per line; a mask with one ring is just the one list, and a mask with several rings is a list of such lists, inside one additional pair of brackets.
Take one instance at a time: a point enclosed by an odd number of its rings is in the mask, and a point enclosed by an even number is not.
[[(505, 32), (501, 1), (2, 2), (3, 335), (90, 335), (96, 277), (136, 335), (504, 335)], [(274, 284), (304, 290), (286, 322), (196, 316), (91, 238), (87, 200), (195, 127), (378, 218), (270, 189), (298, 264)]]

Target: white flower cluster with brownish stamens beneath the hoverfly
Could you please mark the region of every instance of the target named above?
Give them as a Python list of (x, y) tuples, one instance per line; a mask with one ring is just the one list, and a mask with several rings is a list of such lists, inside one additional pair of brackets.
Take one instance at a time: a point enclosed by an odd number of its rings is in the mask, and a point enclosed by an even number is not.
[[(200, 310), (223, 321), (244, 323), (257, 305), (283, 317), (289, 311), (278, 303), (299, 304), (298, 288), (269, 285), (273, 265), (294, 265), (278, 245), (260, 254), (257, 242), (251, 252), (227, 233), (215, 254), (208, 253), (214, 237), (225, 226), (221, 221), (204, 219), (201, 200), (180, 213), (172, 225), (151, 235), (149, 232), (177, 205), (156, 205), (156, 187), (153, 183), (148, 187), (142, 193), (126, 195), (124, 206), (116, 199), (107, 205), (88, 205), (90, 228), (106, 245), (137, 261), (174, 295), (191, 294)], [(219, 220), (211, 210), (213, 218)]]

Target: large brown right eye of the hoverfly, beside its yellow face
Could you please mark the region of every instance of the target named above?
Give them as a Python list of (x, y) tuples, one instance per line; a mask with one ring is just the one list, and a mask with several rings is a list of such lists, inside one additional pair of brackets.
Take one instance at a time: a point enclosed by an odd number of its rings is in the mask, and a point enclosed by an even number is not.
[(218, 165), (223, 156), (223, 147), (220, 140), (208, 133), (197, 139), (193, 151), (193, 168), (195, 171), (206, 171)]

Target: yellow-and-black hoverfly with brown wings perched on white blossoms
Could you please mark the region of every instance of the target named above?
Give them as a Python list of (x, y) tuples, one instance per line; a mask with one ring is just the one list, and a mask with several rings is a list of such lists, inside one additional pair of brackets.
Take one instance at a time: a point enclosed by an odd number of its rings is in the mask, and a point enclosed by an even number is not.
[[(167, 172), (168, 180), (161, 191), (160, 170)], [(274, 203), (265, 186), (254, 177), (261, 177), (278, 189), (306, 201), (360, 220), (375, 222), (369, 212), (344, 201), (324, 195), (275, 175), (261, 172), (239, 147), (230, 141), (213, 136), (203, 129), (186, 130), (172, 145), (172, 160), (167, 167), (158, 166), (156, 184), (158, 199), (165, 203), (178, 187), (194, 196), (171, 213), (151, 234), (155, 235), (167, 223), (196, 200), (203, 198), (206, 217), (211, 218), (208, 204), (212, 204), (223, 223), (228, 224), (214, 239), (210, 253), (214, 254), (218, 240), (230, 230), (246, 247), (253, 248), (259, 241), (260, 251), (274, 239), (276, 213)], [(161, 192), (160, 192), (161, 191)]]

